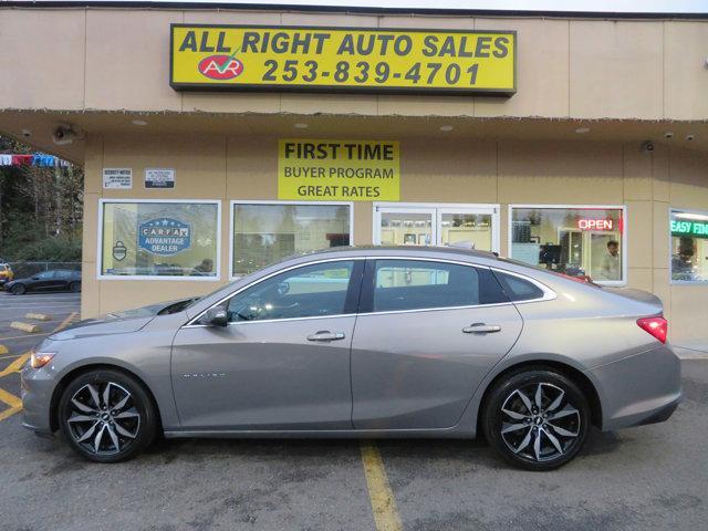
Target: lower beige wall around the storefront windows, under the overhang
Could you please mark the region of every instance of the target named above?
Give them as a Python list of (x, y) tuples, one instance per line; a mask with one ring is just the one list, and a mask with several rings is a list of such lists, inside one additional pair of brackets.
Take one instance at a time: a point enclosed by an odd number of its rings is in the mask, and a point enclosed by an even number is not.
[[(708, 155), (637, 143), (402, 139), (402, 201), (501, 205), (506, 254), (508, 205), (627, 206), (628, 285), (665, 302), (673, 339), (705, 337), (708, 287), (670, 285), (668, 209), (708, 209)], [(132, 190), (102, 190), (103, 167), (131, 167)], [(174, 167), (174, 190), (146, 190), (146, 167)], [(82, 315), (205, 293), (229, 271), (231, 199), (277, 198), (277, 138), (223, 135), (107, 135), (88, 140), (85, 162)], [(434, 191), (433, 191), (434, 190)], [(100, 198), (220, 199), (221, 281), (96, 280)], [(371, 202), (356, 202), (354, 242), (371, 243)]]

